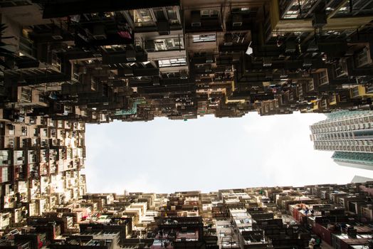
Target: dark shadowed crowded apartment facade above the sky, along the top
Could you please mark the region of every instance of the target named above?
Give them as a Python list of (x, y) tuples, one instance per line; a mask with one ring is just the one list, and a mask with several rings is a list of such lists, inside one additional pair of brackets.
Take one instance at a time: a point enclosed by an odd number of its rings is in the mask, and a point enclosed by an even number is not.
[(369, 110), (373, 6), (349, 3), (1, 1), (1, 110), (93, 123)]

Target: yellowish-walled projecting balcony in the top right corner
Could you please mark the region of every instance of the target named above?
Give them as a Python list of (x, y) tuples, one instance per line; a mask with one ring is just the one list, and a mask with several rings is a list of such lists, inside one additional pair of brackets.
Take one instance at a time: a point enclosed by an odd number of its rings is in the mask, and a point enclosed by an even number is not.
[[(325, 9), (322, 4), (323, 1), (317, 0), (271, 0), (271, 30), (274, 33), (299, 30), (312, 32), (317, 27), (322, 27), (323, 30), (354, 29), (372, 21), (369, 17), (372, 3), (369, 0), (355, 1), (352, 11), (347, 0), (329, 0)], [(325, 11), (325, 15), (314, 15), (322, 11)], [(348, 22), (345, 21), (346, 16), (349, 18)]]

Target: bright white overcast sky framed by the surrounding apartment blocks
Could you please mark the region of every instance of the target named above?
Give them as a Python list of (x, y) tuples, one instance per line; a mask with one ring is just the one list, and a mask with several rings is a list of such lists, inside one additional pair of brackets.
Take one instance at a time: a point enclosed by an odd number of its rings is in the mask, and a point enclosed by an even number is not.
[(174, 191), (346, 184), (373, 171), (335, 164), (313, 149), (310, 124), (325, 115), (87, 124), (88, 191)]

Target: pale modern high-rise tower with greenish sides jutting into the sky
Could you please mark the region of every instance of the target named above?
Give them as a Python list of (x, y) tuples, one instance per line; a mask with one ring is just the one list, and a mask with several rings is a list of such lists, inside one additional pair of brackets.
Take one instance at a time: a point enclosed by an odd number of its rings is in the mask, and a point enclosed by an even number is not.
[(310, 126), (315, 149), (335, 151), (337, 164), (373, 169), (373, 112), (340, 111)]

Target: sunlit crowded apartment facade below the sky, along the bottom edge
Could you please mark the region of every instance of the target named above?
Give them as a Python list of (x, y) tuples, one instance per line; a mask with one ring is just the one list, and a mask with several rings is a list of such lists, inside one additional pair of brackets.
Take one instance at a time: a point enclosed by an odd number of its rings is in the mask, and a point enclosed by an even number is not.
[(373, 183), (85, 194), (15, 223), (0, 248), (370, 248)]

